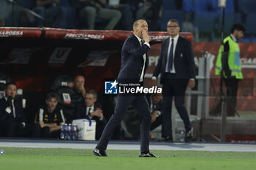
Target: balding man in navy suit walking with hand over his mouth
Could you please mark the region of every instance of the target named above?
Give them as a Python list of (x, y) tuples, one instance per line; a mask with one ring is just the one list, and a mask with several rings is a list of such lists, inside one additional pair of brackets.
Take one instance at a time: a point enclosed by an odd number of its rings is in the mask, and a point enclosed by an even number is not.
[[(133, 23), (133, 33), (125, 40), (121, 50), (121, 69), (118, 74), (119, 87), (121, 84), (136, 83), (143, 85), (143, 78), (148, 66), (147, 52), (150, 49), (148, 36), (148, 23), (145, 20), (136, 20)], [(155, 157), (149, 152), (149, 129), (151, 125), (151, 114), (148, 102), (144, 94), (118, 93), (114, 114), (110, 117), (108, 124), (93, 153), (97, 156), (108, 156), (105, 152), (110, 136), (116, 125), (121, 123), (124, 113), (132, 104), (140, 115), (140, 157)]]

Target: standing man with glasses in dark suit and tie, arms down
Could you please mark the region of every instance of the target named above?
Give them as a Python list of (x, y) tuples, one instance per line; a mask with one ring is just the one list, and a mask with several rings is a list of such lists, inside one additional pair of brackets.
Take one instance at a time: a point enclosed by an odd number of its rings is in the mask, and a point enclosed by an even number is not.
[(167, 32), (170, 38), (162, 42), (162, 50), (157, 67), (152, 79), (157, 83), (157, 77), (161, 74), (160, 82), (163, 88), (163, 141), (173, 142), (171, 125), (171, 107), (174, 96), (178, 114), (184, 122), (186, 129), (185, 140), (192, 139), (192, 125), (186, 107), (184, 97), (187, 86), (195, 86), (195, 63), (192, 45), (188, 39), (179, 36), (180, 27), (177, 20), (169, 20)]

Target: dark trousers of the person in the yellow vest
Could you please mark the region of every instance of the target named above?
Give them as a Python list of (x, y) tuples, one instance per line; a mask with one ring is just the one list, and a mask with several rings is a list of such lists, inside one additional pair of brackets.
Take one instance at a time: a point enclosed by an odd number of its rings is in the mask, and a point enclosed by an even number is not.
[(223, 79), (226, 85), (227, 116), (235, 116), (238, 81), (235, 77)]

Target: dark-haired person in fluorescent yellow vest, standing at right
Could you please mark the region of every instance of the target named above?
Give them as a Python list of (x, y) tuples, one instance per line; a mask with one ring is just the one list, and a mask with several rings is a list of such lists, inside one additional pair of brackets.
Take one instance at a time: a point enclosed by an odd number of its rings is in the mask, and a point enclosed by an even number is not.
[(231, 28), (231, 34), (219, 47), (215, 74), (221, 75), (227, 88), (227, 116), (235, 116), (238, 81), (243, 79), (237, 40), (244, 36), (244, 32), (245, 27), (241, 23), (235, 23)]

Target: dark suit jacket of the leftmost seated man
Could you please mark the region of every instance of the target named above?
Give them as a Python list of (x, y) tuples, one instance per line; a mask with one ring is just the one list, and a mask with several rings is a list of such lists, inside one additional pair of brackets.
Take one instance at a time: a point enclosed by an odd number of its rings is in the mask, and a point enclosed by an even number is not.
[(5, 98), (0, 99), (0, 123), (14, 122), (14, 123), (26, 123), (26, 119), (23, 114), (22, 103), (19, 100), (14, 100), (15, 107), (15, 119), (13, 113), (10, 114), (5, 111), (7, 108), (7, 101)]

